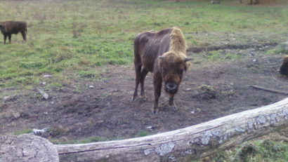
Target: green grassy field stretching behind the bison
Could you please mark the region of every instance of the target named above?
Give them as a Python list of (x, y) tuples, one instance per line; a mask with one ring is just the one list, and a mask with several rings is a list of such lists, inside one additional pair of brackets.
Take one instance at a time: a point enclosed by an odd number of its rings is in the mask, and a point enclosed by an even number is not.
[(287, 6), (229, 2), (1, 1), (1, 21), (29, 25), (26, 43), (18, 34), (11, 44), (0, 44), (0, 88), (32, 88), (43, 74), (53, 75), (51, 86), (69, 83), (70, 77), (95, 79), (96, 66), (131, 63), (134, 36), (150, 29), (181, 27), (190, 46), (205, 44), (191, 32), (287, 32)]

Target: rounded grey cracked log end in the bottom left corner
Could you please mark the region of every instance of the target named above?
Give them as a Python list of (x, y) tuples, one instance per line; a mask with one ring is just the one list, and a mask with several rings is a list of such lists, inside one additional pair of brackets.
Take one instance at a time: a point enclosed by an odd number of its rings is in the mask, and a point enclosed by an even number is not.
[(0, 137), (0, 161), (58, 162), (57, 149), (48, 140), (36, 135), (4, 135)]

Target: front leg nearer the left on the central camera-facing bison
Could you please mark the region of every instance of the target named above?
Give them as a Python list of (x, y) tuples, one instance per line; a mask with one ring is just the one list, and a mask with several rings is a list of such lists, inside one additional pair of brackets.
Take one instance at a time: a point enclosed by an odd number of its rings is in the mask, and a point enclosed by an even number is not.
[(153, 76), (153, 84), (154, 84), (154, 106), (151, 109), (153, 114), (157, 114), (159, 112), (158, 102), (159, 97), (161, 95), (161, 88), (162, 88), (162, 77), (161, 74), (154, 74)]

